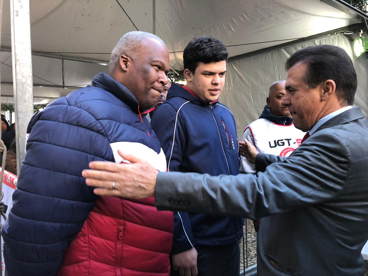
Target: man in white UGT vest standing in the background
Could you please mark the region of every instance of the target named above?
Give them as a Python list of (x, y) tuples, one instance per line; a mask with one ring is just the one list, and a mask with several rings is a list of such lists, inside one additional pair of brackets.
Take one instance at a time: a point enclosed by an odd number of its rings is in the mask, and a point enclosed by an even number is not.
[[(242, 142), (247, 139), (259, 152), (283, 157), (289, 156), (301, 144), (304, 132), (294, 127), (287, 106), (281, 105), (285, 95), (285, 81), (276, 81), (270, 86), (267, 105), (258, 120), (250, 123), (244, 131)], [(241, 142), (240, 142), (241, 143)], [(242, 173), (255, 173), (255, 165), (241, 156)], [(258, 233), (261, 219), (254, 220)]]

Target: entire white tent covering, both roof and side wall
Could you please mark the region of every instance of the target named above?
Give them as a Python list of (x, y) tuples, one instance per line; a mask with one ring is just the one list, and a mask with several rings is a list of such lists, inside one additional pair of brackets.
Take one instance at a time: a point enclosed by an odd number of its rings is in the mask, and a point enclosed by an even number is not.
[[(228, 46), (230, 57), (237, 57), (361, 22), (357, 14), (326, 4), (334, 1), (30, 1), (33, 84), (37, 85), (33, 95), (51, 101), (75, 89), (63, 88), (63, 75), (66, 87), (90, 84), (97, 72), (107, 71), (107, 66), (98, 63), (108, 62), (117, 40), (135, 29), (147, 32), (155, 29), (171, 52), (171, 68), (182, 70), (181, 51), (195, 36), (215, 36)], [(9, 1), (3, 1), (1, 28), (1, 93), (12, 95)], [(343, 35), (314, 41), (304, 45), (321, 41), (345, 47), (351, 44)], [(231, 46), (239, 44), (248, 45)], [(234, 111), (239, 132), (259, 116), (268, 86), (285, 78), (283, 63), (299, 48), (290, 46), (229, 63), (227, 84), (220, 100)], [(349, 51), (351, 54), (351, 49)], [(361, 57), (363, 59), (365, 57)], [(360, 64), (357, 70), (361, 70), (361, 79), (367, 79), (366, 64)], [(362, 91), (367, 85), (360, 82), (360, 87)], [(359, 97), (358, 102), (365, 103), (367, 114), (367, 97), (365, 94)]]

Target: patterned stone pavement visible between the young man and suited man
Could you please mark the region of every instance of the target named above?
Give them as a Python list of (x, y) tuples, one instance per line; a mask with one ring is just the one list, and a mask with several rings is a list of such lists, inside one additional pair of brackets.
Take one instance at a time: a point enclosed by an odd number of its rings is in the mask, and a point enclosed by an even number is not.
[[(240, 271), (248, 266), (251, 266), (257, 262), (257, 240), (256, 232), (253, 227), (253, 222), (250, 219), (246, 220), (247, 224), (247, 246), (245, 244), (245, 236), (243, 238), (244, 243), (240, 244)], [(244, 248), (244, 251), (243, 251)], [(244, 254), (243, 254), (244, 252)], [(248, 256), (248, 263), (247, 257)], [(366, 268), (368, 268), (368, 263), (366, 263)], [(368, 276), (368, 269), (365, 270), (364, 276)]]

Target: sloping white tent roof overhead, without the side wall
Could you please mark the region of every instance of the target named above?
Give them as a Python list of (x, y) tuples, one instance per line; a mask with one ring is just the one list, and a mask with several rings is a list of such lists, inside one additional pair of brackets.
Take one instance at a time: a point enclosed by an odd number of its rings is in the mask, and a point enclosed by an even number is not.
[[(152, 0), (118, 2), (139, 31), (153, 31)], [(136, 29), (118, 2), (31, 1), (32, 50), (109, 61), (117, 40)], [(295, 39), (358, 23), (351, 15), (318, 0), (156, 0), (155, 15), (156, 35), (169, 52), (182, 51), (192, 38), (201, 35), (238, 45)], [(1, 46), (11, 46), (10, 38), (10, 10), (4, 1)], [(229, 47), (229, 53), (236, 56), (277, 44), (280, 42), (234, 46)], [(173, 69), (183, 69), (181, 53), (170, 54), (170, 60)]]

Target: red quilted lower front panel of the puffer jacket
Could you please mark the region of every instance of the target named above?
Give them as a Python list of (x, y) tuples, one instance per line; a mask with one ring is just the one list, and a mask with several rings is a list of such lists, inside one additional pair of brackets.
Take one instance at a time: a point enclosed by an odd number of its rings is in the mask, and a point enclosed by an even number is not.
[(158, 211), (154, 201), (100, 197), (58, 276), (168, 276), (173, 212)]

